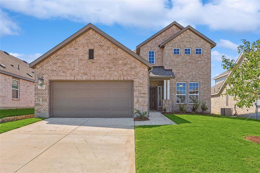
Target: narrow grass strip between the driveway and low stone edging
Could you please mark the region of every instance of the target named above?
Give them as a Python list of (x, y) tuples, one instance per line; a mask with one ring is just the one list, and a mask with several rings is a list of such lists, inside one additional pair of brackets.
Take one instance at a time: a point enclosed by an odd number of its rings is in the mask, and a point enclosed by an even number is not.
[(6, 122), (0, 124), (0, 133), (7, 132), (13, 129), (17, 129), (19, 127), (23, 127), (26, 125), (29, 125), (31, 123), (35, 123), (37, 121), (42, 121), (46, 118), (29, 118), (24, 120), (18, 120), (18, 121), (12, 121), (12, 122)]

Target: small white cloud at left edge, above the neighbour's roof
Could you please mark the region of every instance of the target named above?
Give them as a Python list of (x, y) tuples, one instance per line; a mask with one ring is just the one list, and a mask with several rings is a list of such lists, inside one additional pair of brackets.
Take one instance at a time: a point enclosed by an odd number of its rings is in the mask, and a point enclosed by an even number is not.
[(0, 35), (18, 35), (20, 27), (12, 21), (7, 13), (0, 10)]

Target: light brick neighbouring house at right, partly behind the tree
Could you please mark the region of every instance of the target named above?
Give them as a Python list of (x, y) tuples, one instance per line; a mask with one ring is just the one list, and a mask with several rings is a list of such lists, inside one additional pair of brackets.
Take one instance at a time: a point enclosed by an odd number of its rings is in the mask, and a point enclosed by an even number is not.
[[(241, 53), (236, 63), (241, 64), (243, 60), (243, 53)], [(235, 114), (236, 109), (238, 116), (248, 117), (251, 115), (252, 118), (255, 118), (255, 105), (250, 108), (235, 108), (236, 101), (233, 97), (224, 95), (226, 93), (224, 86), (227, 88), (229, 87), (226, 84), (226, 79), (231, 76), (231, 74), (232, 72), (226, 71), (213, 78), (213, 80), (215, 80), (215, 86), (212, 86), (211, 88), (211, 112), (214, 114), (220, 114), (220, 108), (233, 108), (233, 114)]]

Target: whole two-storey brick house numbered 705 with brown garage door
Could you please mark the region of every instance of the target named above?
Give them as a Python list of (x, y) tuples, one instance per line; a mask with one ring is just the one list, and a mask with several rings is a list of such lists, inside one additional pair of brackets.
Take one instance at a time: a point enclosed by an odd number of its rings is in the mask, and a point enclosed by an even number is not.
[(35, 116), (133, 117), (134, 108), (171, 111), (186, 102), (190, 110), (195, 100), (205, 101), (210, 112), (214, 46), (173, 22), (137, 46), (136, 54), (88, 24), (30, 63), (38, 80)]

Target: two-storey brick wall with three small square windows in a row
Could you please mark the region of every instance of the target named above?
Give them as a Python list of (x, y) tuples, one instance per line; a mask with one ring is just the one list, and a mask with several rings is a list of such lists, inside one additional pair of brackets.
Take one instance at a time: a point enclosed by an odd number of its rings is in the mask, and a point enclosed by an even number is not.
[[(173, 48), (180, 48), (180, 55), (173, 55)], [(184, 55), (184, 48), (191, 48), (191, 55)], [(202, 55), (195, 55), (195, 48), (202, 48)], [(164, 47), (164, 68), (172, 69), (175, 75), (170, 79), (170, 99), (173, 111), (178, 111), (176, 104), (176, 82), (186, 82), (187, 111), (189, 104), (189, 82), (199, 82), (199, 101), (205, 101), (211, 112), (211, 47), (208, 42), (190, 30), (168, 42)], [(198, 111), (201, 111), (199, 107)]]

